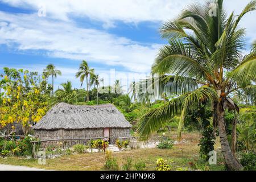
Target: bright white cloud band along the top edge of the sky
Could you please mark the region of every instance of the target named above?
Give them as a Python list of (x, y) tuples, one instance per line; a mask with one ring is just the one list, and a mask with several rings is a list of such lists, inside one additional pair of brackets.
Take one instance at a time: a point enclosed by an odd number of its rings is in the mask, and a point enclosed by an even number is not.
[(39, 10), (46, 6), (46, 13), (57, 19), (68, 20), (69, 15), (87, 16), (105, 22), (112, 27), (113, 21), (123, 22), (162, 21), (174, 19), (180, 7), (190, 0), (2, 0), (16, 7)]

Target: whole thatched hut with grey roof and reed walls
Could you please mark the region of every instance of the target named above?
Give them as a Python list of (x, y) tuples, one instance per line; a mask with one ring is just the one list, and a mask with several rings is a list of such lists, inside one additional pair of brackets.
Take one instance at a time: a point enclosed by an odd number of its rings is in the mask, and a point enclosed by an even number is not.
[(130, 123), (112, 104), (87, 106), (60, 103), (52, 107), (33, 127), (41, 139), (130, 136)]

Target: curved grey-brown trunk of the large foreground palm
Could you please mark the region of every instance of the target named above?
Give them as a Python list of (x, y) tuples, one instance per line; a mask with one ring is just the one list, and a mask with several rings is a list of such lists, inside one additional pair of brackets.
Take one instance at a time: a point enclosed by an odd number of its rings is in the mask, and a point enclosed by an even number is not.
[(241, 170), (243, 167), (237, 161), (236, 157), (233, 155), (232, 151), (230, 150), (228, 138), (226, 136), (226, 128), (224, 123), (225, 109), (224, 109), (223, 101), (220, 101), (218, 103), (217, 112), (218, 112), (218, 133), (220, 135), (221, 150), (224, 155), (225, 162), (229, 169)]

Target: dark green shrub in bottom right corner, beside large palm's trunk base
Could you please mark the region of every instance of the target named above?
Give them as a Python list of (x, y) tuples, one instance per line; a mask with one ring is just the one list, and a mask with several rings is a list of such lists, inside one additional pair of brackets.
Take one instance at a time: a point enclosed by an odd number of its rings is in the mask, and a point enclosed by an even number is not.
[(246, 171), (256, 171), (256, 154), (253, 151), (243, 152), (241, 164)]

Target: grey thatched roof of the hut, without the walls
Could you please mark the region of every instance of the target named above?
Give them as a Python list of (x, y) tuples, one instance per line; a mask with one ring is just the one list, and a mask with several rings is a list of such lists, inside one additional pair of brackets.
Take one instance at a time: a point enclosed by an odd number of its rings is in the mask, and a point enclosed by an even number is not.
[(88, 129), (131, 127), (123, 114), (112, 104), (78, 106), (56, 104), (34, 126), (34, 130)]

